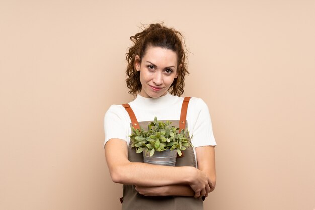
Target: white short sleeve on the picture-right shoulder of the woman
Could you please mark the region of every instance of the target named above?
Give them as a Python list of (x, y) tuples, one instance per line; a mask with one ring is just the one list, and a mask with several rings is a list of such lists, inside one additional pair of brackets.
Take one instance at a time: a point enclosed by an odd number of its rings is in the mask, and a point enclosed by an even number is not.
[(207, 104), (200, 98), (195, 106), (196, 122), (193, 127), (193, 137), (191, 139), (194, 147), (215, 146), (212, 122)]

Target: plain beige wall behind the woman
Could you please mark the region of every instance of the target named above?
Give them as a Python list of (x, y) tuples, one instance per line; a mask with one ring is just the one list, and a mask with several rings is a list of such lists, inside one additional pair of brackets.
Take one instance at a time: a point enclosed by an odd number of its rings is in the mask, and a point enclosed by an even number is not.
[(129, 37), (186, 37), (217, 140), (213, 210), (315, 208), (315, 1), (0, 1), (0, 209), (120, 209), (103, 116)]

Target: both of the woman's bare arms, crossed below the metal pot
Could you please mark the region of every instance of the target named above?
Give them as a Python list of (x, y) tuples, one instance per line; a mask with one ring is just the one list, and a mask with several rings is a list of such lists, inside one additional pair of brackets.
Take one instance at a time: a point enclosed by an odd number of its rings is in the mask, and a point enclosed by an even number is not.
[(213, 191), (216, 182), (214, 147), (197, 147), (196, 154), (198, 169), (190, 166), (157, 166), (130, 162), (127, 144), (121, 139), (110, 139), (105, 145), (112, 180), (136, 185), (136, 190), (146, 196), (201, 197)]

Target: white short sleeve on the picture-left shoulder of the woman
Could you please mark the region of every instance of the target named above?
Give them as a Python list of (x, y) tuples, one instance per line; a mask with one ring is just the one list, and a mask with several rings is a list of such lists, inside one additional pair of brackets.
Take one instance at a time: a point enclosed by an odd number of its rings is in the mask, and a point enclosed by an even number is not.
[(112, 138), (122, 139), (128, 142), (128, 127), (126, 121), (125, 110), (121, 105), (112, 105), (104, 117), (105, 144)]

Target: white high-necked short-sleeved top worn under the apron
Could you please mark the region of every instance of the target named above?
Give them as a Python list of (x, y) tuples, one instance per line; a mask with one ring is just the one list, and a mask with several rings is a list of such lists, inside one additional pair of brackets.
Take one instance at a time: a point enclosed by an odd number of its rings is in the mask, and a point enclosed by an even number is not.
[[(157, 120), (179, 120), (184, 98), (167, 93), (159, 98), (145, 98), (140, 95), (130, 102), (138, 122)], [(206, 103), (192, 97), (187, 109), (187, 126), (194, 147), (216, 145), (211, 118)], [(130, 117), (122, 105), (112, 105), (104, 118), (105, 143), (112, 138), (122, 139), (129, 145), (131, 135)]]

